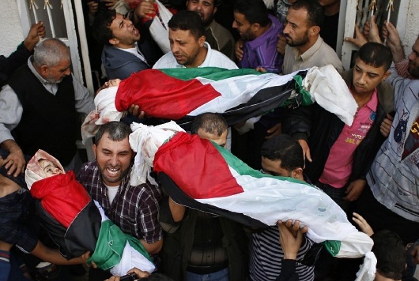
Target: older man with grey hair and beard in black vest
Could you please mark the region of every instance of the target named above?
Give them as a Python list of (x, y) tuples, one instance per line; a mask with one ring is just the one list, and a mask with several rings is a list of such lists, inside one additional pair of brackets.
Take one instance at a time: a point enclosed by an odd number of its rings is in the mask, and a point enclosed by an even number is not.
[[(70, 52), (59, 39), (46, 39), (27, 65), (0, 92), (0, 146), (9, 151), (5, 167), (17, 176), (23, 154), (53, 154), (66, 169), (80, 167), (76, 154), (76, 112), (94, 109), (89, 91), (70, 72)], [(79, 164), (80, 163), (80, 164)]]

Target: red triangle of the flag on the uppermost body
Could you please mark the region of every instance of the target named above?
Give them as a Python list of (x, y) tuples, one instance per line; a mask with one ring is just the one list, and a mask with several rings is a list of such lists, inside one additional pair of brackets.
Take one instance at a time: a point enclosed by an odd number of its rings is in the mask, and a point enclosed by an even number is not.
[(118, 111), (138, 105), (145, 114), (179, 119), (199, 106), (221, 96), (210, 84), (168, 76), (157, 69), (133, 73), (119, 85), (115, 106)]

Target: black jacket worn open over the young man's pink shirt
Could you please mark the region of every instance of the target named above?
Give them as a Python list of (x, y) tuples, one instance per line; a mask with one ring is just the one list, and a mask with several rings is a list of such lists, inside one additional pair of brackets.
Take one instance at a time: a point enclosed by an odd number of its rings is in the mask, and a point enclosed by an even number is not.
[[(342, 73), (348, 87), (352, 83), (353, 70)], [(380, 125), (387, 113), (394, 110), (393, 88), (381, 82), (377, 86), (378, 106), (376, 118), (353, 156), (352, 173), (346, 184), (355, 179), (364, 179), (366, 173), (385, 140)], [(330, 149), (342, 132), (344, 123), (333, 113), (318, 104), (299, 107), (290, 111), (282, 124), (282, 130), (297, 139), (305, 139), (310, 148), (313, 162), (306, 162), (304, 172), (312, 182), (317, 182), (323, 173)]]

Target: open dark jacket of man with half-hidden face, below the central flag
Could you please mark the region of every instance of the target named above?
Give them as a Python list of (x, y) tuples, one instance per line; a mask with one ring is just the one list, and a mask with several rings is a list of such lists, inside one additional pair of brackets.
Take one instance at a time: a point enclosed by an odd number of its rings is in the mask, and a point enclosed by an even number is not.
[[(187, 209), (182, 221), (175, 223), (165, 198), (159, 211), (159, 221), (165, 230), (162, 248), (163, 273), (174, 280), (184, 280), (195, 235), (197, 210)], [(243, 281), (248, 273), (248, 240), (243, 227), (219, 217), (224, 233), (223, 247), (227, 250), (229, 280)], [(167, 231), (167, 232), (166, 232)]]

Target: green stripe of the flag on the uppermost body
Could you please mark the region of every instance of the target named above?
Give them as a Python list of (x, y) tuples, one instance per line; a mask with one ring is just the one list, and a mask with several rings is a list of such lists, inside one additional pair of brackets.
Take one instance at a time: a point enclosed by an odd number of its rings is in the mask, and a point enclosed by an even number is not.
[(219, 81), (226, 78), (243, 75), (262, 75), (254, 69), (225, 69), (220, 67), (196, 67), (196, 68), (164, 68), (159, 69), (163, 73), (181, 80), (191, 80), (196, 77), (202, 77), (213, 81)]

